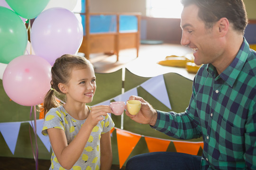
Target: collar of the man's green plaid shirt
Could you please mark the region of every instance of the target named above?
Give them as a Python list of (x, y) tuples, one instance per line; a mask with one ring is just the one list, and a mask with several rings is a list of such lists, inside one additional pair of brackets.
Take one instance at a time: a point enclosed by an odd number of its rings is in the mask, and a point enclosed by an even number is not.
[[(244, 67), (244, 64), (247, 60), (248, 54), (249, 54), (250, 48), (249, 44), (247, 43), (246, 39), (244, 38), (244, 41), (238, 51), (237, 56), (235, 59), (231, 62), (231, 64), (226, 68), (219, 76), (217, 75), (217, 70), (212, 64), (208, 64), (207, 71), (213, 76), (213, 77), (221, 77), (229, 86), (233, 86), (239, 72)], [(215, 76), (214, 76), (215, 75)]]

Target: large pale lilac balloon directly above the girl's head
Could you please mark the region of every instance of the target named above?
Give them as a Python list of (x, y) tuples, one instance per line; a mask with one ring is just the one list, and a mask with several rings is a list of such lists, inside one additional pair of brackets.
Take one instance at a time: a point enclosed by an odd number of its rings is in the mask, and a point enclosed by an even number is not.
[(31, 28), (35, 54), (51, 65), (63, 54), (75, 54), (82, 44), (82, 24), (65, 8), (49, 8), (35, 19)]

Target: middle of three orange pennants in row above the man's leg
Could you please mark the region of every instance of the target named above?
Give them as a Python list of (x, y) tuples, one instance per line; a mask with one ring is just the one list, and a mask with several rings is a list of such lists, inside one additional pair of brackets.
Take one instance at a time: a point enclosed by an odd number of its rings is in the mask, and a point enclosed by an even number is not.
[(171, 141), (168, 140), (146, 136), (145, 140), (149, 152), (165, 152), (171, 143)]

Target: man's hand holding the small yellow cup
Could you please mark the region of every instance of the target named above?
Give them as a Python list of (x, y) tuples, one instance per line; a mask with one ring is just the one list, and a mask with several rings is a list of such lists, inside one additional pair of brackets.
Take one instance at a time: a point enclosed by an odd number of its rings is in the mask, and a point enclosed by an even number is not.
[(136, 121), (137, 123), (142, 124), (149, 124), (151, 126), (155, 126), (155, 122), (157, 119), (157, 112), (156, 110), (143, 98), (138, 96), (130, 96), (129, 100), (138, 100), (141, 102), (141, 108), (137, 115), (131, 115), (127, 110), (127, 105), (125, 106), (126, 115), (130, 117), (132, 120)]

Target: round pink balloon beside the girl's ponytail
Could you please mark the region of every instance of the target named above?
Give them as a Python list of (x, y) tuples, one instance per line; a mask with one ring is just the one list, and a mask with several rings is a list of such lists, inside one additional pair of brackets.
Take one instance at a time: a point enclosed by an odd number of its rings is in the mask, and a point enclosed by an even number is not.
[(36, 55), (22, 55), (11, 60), (3, 74), (6, 94), (24, 106), (43, 103), (50, 82), (51, 65)]

